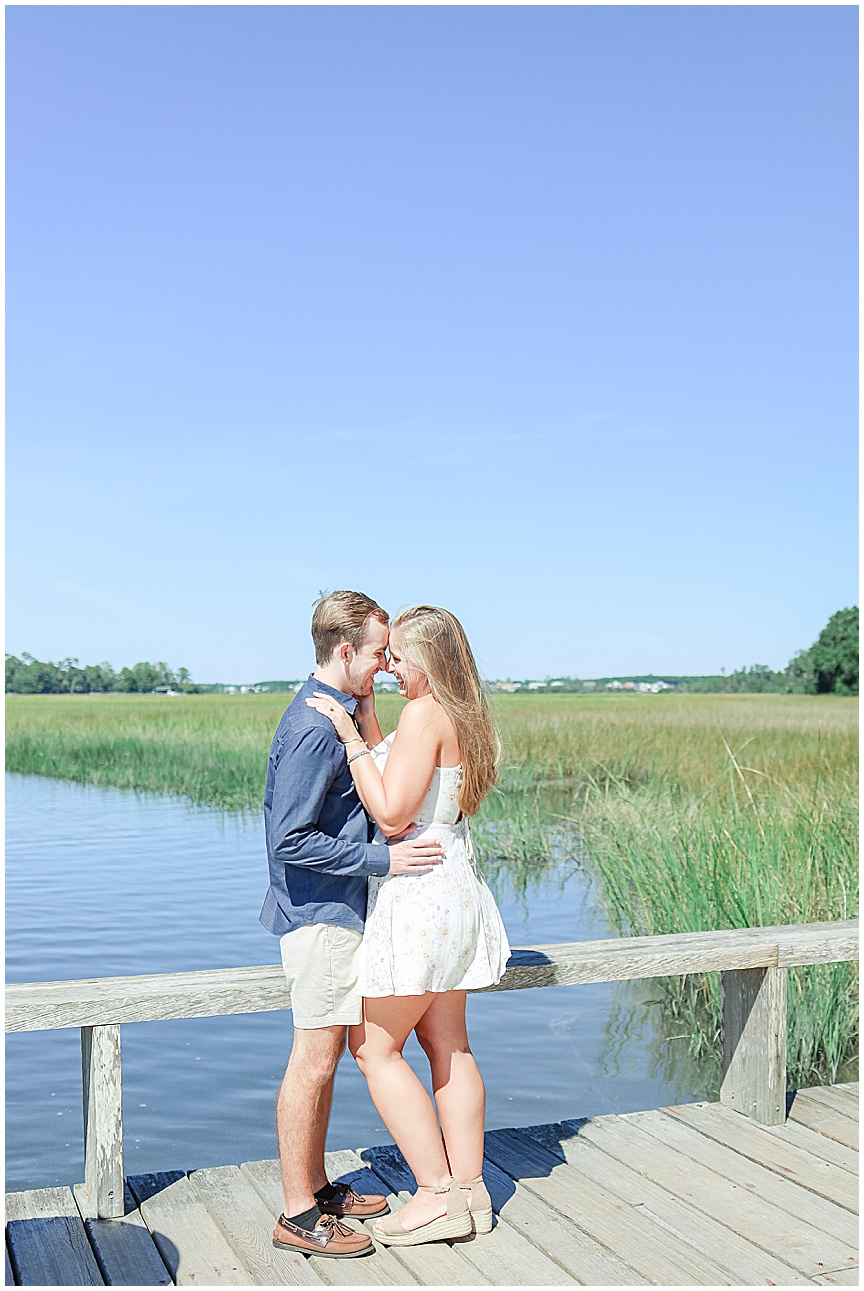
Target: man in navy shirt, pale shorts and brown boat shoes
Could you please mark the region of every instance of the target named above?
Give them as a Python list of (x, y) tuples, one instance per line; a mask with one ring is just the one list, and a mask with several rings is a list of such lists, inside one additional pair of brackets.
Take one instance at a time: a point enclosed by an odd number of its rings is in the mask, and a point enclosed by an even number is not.
[[(338, 1220), (387, 1210), (328, 1183), (324, 1139), (336, 1066), (347, 1028), (362, 1017), (358, 955), (369, 875), (426, 873), (442, 860), (438, 842), (372, 843), (347, 755), (360, 737), (380, 738), (372, 684), (389, 671), (387, 615), (359, 591), (322, 596), (313, 615), (315, 671), (285, 709), (270, 749), (263, 798), (270, 888), (261, 911), (280, 939), (291, 989), (294, 1041), (276, 1104), (285, 1211), (274, 1246), (337, 1257), (367, 1255), (372, 1239)], [(356, 723), (345, 749), (333, 723), (305, 702), (315, 691)], [(346, 755), (347, 753), (347, 755)]]

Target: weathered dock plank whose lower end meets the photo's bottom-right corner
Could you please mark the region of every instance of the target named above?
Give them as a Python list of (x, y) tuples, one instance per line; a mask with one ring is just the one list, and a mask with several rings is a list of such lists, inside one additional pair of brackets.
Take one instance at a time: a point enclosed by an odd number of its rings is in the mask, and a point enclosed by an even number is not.
[(856, 1252), (847, 1243), (796, 1219), (779, 1206), (753, 1195), (743, 1184), (717, 1175), (701, 1162), (661, 1143), (637, 1124), (634, 1117), (588, 1121), (580, 1133), (610, 1157), (639, 1170), (668, 1192), (719, 1219), (734, 1232), (762, 1246), (808, 1278), (856, 1263)]

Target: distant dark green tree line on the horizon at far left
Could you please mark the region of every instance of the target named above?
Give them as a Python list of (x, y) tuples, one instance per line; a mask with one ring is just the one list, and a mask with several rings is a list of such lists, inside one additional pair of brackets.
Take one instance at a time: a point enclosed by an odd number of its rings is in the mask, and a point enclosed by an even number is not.
[(150, 695), (152, 691), (182, 691), (195, 695), (189, 669), (176, 671), (167, 664), (133, 664), (119, 673), (110, 664), (79, 664), (62, 658), (45, 662), (23, 653), (6, 655), (6, 695)]

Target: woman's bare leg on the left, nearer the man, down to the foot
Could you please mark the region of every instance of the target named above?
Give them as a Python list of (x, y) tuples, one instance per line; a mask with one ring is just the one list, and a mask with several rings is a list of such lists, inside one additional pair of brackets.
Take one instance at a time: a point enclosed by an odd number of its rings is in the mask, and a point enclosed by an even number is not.
[[(363, 1001), (363, 1022), (349, 1044), (369, 1086), (378, 1115), (393, 1135), (418, 1184), (442, 1188), (449, 1180), (435, 1108), (402, 1056), (412, 1030), (437, 997), (389, 995)], [(400, 1211), (403, 1228), (418, 1228), (447, 1212), (447, 1198), (416, 1193)]]

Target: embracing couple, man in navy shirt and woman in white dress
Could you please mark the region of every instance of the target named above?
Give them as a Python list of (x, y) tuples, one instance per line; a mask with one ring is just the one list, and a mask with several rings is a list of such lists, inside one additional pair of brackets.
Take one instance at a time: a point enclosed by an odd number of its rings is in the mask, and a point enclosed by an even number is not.
[[(356, 591), (313, 616), (316, 667), (270, 750), (270, 888), (261, 922), (280, 939), (294, 1042), (276, 1105), (285, 1211), (274, 1245), (367, 1255), (345, 1216), (385, 1245), (487, 1233), (486, 1091), (468, 1043), (465, 991), (499, 982), (510, 954), (478, 870), (469, 820), (497, 780), (497, 737), (453, 615), (416, 605), (389, 624)], [(389, 649), (389, 658), (387, 658)], [(381, 738), (372, 683), (393, 671), (409, 702)], [(434, 1103), (402, 1056), (415, 1032)], [(347, 1042), (417, 1180), (387, 1215), (324, 1172), (336, 1065)]]

